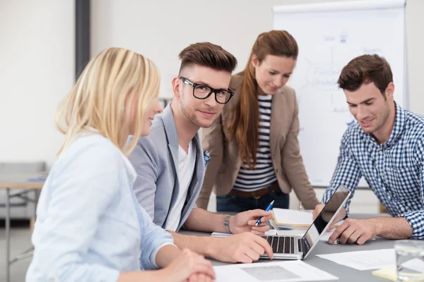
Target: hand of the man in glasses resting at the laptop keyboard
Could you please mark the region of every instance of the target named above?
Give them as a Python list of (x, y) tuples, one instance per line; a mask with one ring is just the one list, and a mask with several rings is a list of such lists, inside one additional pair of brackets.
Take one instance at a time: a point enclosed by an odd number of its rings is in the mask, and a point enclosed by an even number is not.
[(273, 259), (268, 241), (258, 235), (246, 232), (216, 239), (211, 257), (220, 262), (251, 263), (257, 261), (264, 253)]

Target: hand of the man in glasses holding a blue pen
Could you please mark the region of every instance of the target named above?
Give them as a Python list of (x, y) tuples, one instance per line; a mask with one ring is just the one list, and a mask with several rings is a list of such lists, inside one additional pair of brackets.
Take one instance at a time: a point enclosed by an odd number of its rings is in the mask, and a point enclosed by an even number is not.
[[(263, 216), (261, 218), (261, 224), (254, 226), (260, 216)], [(266, 224), (266, 221), (269, 221), (271, 217), (271, 212), (265, 212), (263, 209), (252, 209), (247, 212), (240, 212), (240, 214), (231, 216), (230, 231), (233, 234), (252, 232), (257, 235), (263, 235), (266, 231), (269, 231), (269, 226)]]

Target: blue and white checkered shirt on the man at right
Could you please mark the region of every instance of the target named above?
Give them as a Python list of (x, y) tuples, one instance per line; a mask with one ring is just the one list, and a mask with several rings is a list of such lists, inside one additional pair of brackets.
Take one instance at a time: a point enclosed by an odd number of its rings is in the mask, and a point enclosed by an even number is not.
[(424, 238), (424, 117), (396, 104), (396, 118), (389, 140), (379, 145), (358, 123), (343, 135), (336, 170), (323, 202), (338, 185), (352, 191), (361, 176), (391, 216), (404, 217), (413, 228), (412, 238)]

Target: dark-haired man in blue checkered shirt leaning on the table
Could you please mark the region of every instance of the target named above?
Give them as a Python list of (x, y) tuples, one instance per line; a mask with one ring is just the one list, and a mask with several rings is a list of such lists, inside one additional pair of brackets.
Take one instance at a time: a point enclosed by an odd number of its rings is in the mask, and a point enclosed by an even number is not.
[[(338, 185), (352, 191), (361, 176), (392, 217), (346, 219), (329, 243), (357, 243), (380, 236), (424, 238), (424, 117), (394, 102), (394, 83), (387, 61), (377, 55), (358, 56), (341, 71), (338, 86), (346, 94), (358, 123), (343, 135), (334, 176), (323, 201)], [(336, 221), (348, 214), (346, 206)], [(314, 216), (323, 208), (317, 205)]]

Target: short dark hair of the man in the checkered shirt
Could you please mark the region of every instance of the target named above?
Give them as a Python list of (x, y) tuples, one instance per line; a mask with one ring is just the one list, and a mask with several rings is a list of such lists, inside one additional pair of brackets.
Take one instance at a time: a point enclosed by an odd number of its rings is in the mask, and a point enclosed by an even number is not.
[(377, 54), (356, 57), (343, 68), (337, 80), (338, 87), (348, 91), (358, 90), (363, 83), (371, 82), (383, 95), (387, 85), (393, 82), (389, 63)]

